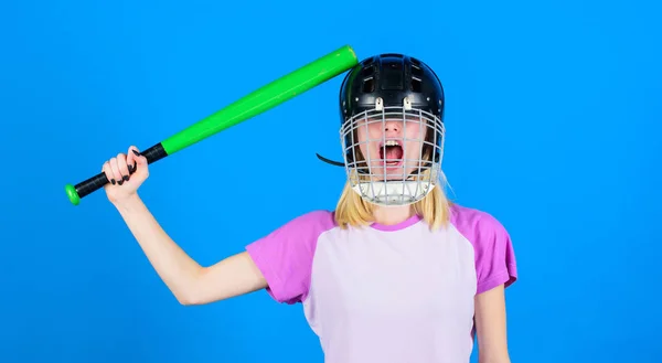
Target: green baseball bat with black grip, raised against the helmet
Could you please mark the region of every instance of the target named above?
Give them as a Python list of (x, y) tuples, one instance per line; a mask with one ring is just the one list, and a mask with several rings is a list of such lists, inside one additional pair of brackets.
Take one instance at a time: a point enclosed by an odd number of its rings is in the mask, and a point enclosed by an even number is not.
[[(344, 45), (300, 68), (254, 90), (225, 108), (189, 126), (168, 139), (141, 152), (148, 163), (161, 160), (234, 125), (257, 116), (284, 102), (305, 93), (359, 63), (351, 46)], [(66, 184), (66, 194), (74, 205), (92, 192), (108, 183), (102, 172), (76, 185)]]

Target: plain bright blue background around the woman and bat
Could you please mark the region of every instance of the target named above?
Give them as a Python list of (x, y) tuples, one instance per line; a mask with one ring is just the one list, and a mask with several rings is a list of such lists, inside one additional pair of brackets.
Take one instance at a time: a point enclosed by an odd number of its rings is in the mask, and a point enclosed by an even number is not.
[[(3, 2), (0, 362), (321, 362), (300, 305), (182, 307), (104, 193), (73, 206), (63, 186), (344, 44), (441, 77), (451, 196), (515, 243), (513, 362), (659, 362), (659, 19), (653, 1)], [(141, 195), (192, 257), (334, 207), (343, 170), (314, 152), (340, 157), (340, 82), (151, 168)]]

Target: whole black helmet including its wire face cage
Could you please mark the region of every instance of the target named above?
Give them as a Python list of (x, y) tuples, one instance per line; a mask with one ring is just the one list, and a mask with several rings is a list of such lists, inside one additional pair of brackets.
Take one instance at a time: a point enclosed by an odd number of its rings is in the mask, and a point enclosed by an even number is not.
[[(436, 73), (405, 54), (371, 56), (345, 75), (339, 98), (343, 161), (318, 158), (344, 167), (352, 189), (375, 204), (410, 204), (431, 192), (445, 139), (444, 87)], [(384, 130), (394, 128), (388, 139)], [(381, 140), (370, 139), (375, 130)], [(375, 150), (366, 146), (371, 141), (380, 146), (372, 157), (365, 154)]]

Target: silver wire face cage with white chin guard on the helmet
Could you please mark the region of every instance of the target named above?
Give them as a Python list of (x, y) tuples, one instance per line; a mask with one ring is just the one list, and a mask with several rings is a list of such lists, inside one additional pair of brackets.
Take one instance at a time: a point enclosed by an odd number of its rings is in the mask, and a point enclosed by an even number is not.
[[(395, 132), (387, 132), (398, 128)], [(441, 118), (413, 108), (382, 106), (352, 115), (340, 129), (345, 172), (364, 200), (384, 206), (424, 199), (438, 184), (444, 156)]]

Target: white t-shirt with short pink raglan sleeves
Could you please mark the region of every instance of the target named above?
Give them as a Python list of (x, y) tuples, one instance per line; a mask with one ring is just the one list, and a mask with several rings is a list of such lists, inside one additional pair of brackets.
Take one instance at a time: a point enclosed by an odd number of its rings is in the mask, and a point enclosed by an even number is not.
[(419, 216), (341, 229), (312, 211), (246, 249), (279, 302), (301, 302), (325, 363), (467, 363), (474, 297), (516, 279), (511, 238), (490, 214), (451, 204), (430, 231)]

